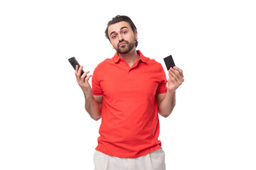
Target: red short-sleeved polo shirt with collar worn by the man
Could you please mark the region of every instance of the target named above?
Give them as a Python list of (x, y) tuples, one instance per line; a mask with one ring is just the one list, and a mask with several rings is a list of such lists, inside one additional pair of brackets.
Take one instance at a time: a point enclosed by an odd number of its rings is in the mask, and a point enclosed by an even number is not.
[(166, 93), (166, 74), (159, 62), (137, 53), (132, 67), (116, 53), (92, 76), (93, 95), (103, 95), (96, 149), (114, 157), (142, 157), (161, 147), (156, 94)]

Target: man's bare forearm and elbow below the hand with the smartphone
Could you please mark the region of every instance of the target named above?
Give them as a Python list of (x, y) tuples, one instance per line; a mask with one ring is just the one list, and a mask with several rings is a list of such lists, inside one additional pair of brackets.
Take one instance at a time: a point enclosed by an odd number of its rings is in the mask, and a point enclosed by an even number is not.
[(99, 106), (93, 96), (85, 96), (85, 110), (93, 120), (101, 118), (101, 106)]

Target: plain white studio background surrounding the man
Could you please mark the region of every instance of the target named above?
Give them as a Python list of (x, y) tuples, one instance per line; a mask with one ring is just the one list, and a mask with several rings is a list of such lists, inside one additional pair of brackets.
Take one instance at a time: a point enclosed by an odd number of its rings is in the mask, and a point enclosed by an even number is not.
[(68, 62), (92, 73), (132, 18), (146, 57), (173, 55), (185, 81), (160, 117), (166, 169), (256, 169), (253, 1), (1, 1), (0, 169), (93, 169), (100, 122)]

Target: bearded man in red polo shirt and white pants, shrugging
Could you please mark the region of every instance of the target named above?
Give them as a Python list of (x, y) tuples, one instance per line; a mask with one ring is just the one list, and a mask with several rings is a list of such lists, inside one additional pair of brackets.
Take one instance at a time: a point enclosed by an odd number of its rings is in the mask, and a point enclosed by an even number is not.
[(102, 118), (95, 169), (166, 169), (158, 113), (167, 118), (173, 111), (183, 72), (169, 69), (167, 81), (161, 64), (136, 50), (137, 28), (127, 16), (112, 18), (105, 34), (117, 51), (114, 57), (98, 64), (93, 76), (80, 77), (82, 66), (75, 69), (85, 110), (94, 120)]

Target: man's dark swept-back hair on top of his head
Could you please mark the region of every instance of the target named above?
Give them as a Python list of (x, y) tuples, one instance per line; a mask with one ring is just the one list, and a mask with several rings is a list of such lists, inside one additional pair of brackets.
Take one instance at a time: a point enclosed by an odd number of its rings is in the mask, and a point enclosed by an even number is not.
[[(105, 30), (105, 36), (108, 40), (110, 40), (110, 37), (108, 35), (108, 28), (110, 27), (110, 25), (114, 24), (114, 23), (119, 23), (121, 21), (125, 21), (127, 23), (129, 23), (129, 26), (132, 28), (132, 31), (135, 33), (135, 30), (137, 30), (136, 26), (134, 25), (134, 23), (132, 22), (131, 18), (129, 18), (128, 16), (115, 16), (114, 18), (112, 18), (111, 21), (109, 21), (107, 23), (107, 28)], [(138, 45), (138, 41), (135, 40), (135, 47), (137, 47)]]

